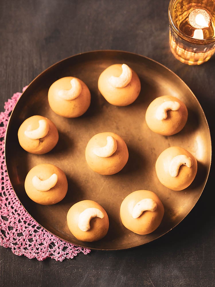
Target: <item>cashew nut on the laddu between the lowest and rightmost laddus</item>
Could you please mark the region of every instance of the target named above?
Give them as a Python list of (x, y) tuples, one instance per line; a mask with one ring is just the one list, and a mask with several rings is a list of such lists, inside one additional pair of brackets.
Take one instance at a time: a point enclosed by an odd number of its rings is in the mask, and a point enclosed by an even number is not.
[(140, 200), (134, 206), (132, 210), (132, 217), (138, 218), (144, 211), (155, 211), (157, 209), (157, 203), (151, 198), (144, 198)]

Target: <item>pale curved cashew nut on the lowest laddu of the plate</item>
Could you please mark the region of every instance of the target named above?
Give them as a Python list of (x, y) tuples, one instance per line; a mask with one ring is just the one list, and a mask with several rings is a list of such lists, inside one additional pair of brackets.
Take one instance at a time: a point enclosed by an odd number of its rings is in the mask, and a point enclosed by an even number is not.
[(95, 217), (103, 218), (104, 214), (98, 208), (91, 207), (85, 209), (79, 214), (78, 227), (82, 231), (90, 230), (90, 220)]

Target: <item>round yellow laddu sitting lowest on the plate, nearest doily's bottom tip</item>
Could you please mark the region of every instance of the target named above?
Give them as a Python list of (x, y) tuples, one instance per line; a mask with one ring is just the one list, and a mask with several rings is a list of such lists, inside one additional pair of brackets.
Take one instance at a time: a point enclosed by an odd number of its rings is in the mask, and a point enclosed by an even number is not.
[[(92, 214), (95, 216), (95, 210), (91, 211), (87, 209), (98, 209), (101, 215), (103, 215), (103, 218), (93, 217), (90, 220)], [(85, 212), (85, 214), (83, 214), (83, 212)], [(80, 219), (80, 214), (82, 214), (82, 220)], [(81, 221), (84, 222), (81, 224), (81, 227), (83, 228), (88, 224), (89, 230), (83, 231), (80, 229), (79, 225)], [(93, 200), (83, 200), (75, 203), (69, 209), (67, 213), (67, 224), (71, 233), (78, 240), (92, 242), (100, 240), (107, 234), (109, 219), (106, 211), (97, 202)]]

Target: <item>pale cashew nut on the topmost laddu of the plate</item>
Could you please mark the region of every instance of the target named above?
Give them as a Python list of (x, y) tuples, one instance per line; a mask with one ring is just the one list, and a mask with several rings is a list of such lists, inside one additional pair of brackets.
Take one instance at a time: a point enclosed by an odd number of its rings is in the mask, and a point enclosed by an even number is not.
[(108, 81), (114, 88), (126, 87), (132, 79), (132, 70), (126, 64), (122, 64), (122, 74), (119, 77), (111, 76)]

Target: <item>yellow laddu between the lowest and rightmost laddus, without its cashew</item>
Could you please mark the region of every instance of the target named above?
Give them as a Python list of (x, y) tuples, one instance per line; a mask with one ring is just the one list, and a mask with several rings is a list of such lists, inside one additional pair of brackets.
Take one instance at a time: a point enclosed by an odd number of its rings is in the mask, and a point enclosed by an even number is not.
[[(156, 210), (143, 210), (142, 214), (133, 218), (134, 206), (144, 199), (153, 200)], [(127, 195), (120, 206), (120, 218), (122, 224), (137, 234), (149, 234), (161, 224), (164, 215), (164, 207), (159, 197), (152, 191), (137, 190)]]

